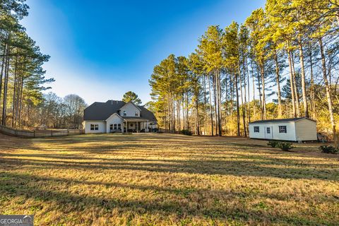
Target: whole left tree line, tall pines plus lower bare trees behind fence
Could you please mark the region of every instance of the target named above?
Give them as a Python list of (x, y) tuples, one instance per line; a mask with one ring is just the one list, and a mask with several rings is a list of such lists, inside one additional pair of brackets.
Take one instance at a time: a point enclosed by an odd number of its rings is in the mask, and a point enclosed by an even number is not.
[(46, 78), (42, 54), (20, 24), (28, 16), (25, 0), (0, 1), (0, 124), (13, 128), (80, 129), (85, 101), (78, 95), (43, 94)]

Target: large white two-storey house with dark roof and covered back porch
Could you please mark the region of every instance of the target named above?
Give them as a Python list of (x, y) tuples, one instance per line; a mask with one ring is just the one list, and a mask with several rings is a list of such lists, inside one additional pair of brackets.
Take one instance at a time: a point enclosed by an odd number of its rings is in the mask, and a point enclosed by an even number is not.
[(85, 133), (150, 132), (157, 128), (154, 114), (133, 102), (94, 102), (83, 112)]

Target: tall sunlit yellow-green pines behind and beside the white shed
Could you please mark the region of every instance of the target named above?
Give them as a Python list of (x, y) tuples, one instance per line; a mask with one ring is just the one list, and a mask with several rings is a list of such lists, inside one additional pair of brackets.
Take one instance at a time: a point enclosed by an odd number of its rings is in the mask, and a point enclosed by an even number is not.
[(309, 117), (333, 135), (338, 12), (333, 0), (268, 0), (240, 25), (211, 25), (188, 57), (154, 67), (148, 105), (169, 131), (247, 136), (254, 120)]

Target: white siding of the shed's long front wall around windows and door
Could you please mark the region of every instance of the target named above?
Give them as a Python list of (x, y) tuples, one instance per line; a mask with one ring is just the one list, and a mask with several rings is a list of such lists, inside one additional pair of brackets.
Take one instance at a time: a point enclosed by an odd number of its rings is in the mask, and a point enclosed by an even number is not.
[[(259, 133), (254, 133), (254, 126), (259, 126)], [(287, 133), (280, 133), (279, 126), (286, 126)], [(273, 140), (297, 141), (295, 136), (295, 122), (266, 122), (249, 124), (249, 138), (265, 139), (265, 128), (272, 128)]]

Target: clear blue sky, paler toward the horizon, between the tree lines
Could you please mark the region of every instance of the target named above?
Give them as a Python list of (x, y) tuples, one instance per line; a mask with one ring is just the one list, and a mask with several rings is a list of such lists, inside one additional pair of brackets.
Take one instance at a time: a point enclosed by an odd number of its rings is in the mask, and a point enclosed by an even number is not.
[(27, 0), (22, 22), (51, 59), (57, 95), (75, 93), (88, 104), (121, 100), (129, 90), (150, 100), (148, 79), (169, 54), (194, 52), (208, 25), (243, 23), (263, 0), (87, 1)]

